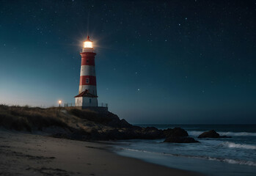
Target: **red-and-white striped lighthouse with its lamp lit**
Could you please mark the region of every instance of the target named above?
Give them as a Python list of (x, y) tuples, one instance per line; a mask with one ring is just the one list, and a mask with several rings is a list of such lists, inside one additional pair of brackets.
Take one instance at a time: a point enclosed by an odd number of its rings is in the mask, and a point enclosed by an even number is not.
[(85, 109), (87, 107), (98, 107), (98, 96), (95, 74), (95, 50), (92, 40), (84, 41), (81, 50), (81, 70), (78, 95), (75, 97), (76, 106)]

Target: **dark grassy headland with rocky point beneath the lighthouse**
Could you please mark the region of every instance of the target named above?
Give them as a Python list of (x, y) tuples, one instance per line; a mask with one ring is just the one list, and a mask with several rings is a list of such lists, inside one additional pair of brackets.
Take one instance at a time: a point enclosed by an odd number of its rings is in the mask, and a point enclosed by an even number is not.
[(0, 126), (76, 140), (165, 139), (166, 142), (193, 142), (181, 128), (142, 128), (120, 120), (111, 112), (102, 114), (81, 109), (40, 109), (28, 106), (0, 106)]

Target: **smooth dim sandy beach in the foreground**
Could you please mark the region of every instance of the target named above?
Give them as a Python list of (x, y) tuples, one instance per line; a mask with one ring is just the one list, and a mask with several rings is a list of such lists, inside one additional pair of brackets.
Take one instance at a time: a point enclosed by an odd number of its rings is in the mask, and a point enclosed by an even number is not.
[(200, 175), (113, 153), (106, 144), (0, 131), (0, 175)]

